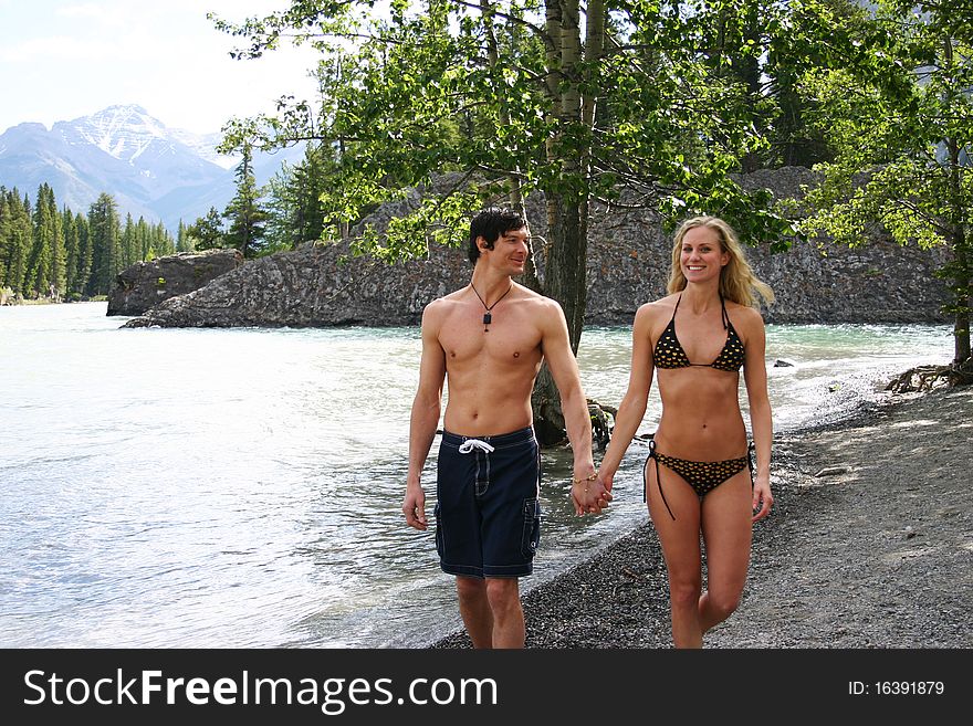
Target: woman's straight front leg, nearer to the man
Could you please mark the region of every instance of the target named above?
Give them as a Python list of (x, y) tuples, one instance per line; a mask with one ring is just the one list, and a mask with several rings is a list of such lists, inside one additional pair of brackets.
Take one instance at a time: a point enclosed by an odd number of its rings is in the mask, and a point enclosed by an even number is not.
[[(669, 571), (669, 600), (672, 613), (672, 643), (676, 648), (701, 648), (702, 629), (699, 601), (702, 589), (700, 550), (700, 501), (686, 481), (666, 466), (656, 467), (650, 459), (646, 466), (646, 498), (649, 515), (662, 545)], [(659, 494), (658, 473), (662, 476), (666, 502)], [(669, 507), (666, 507), (668, 503)], [(672, 509), (672, 516), (669, 514)]]

